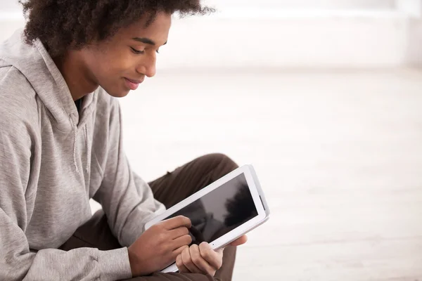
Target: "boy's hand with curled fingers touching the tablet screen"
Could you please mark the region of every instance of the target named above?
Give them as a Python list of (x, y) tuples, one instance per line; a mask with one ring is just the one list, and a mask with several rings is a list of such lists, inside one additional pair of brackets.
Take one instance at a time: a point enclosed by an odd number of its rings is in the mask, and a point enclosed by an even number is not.
[(191, 220), (177, 216), (148, 228), (129, 248), (132, 276), (148, 275), (169, 266), (192, 238), (188, 228)]

